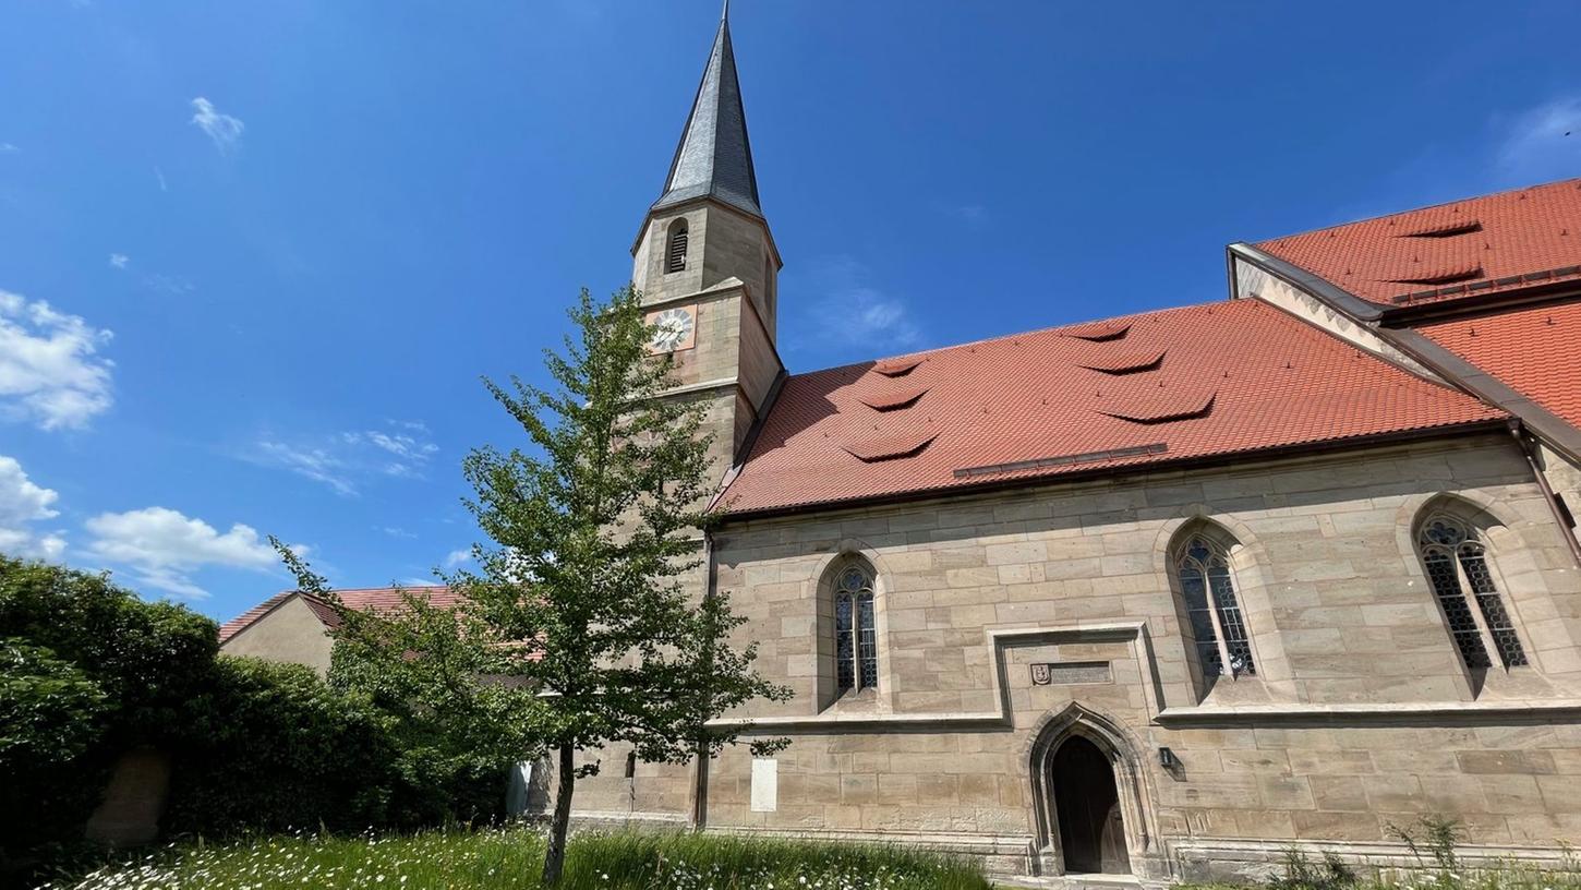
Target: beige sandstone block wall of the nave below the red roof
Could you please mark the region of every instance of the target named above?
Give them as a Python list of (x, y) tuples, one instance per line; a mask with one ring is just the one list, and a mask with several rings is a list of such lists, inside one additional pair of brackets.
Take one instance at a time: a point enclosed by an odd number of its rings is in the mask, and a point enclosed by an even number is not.
[[(1413, 550), (1436, 509), (1480, 530), (1529, 667), (1462, 666)], [(1192, 528), (1236, 542), (1257, 664), (1211, 688), (1170, 571)], [(817, 599), (844, 555), (877, 575), (881, 681), (825, 705)], [(1387, 844), (1424, 813), (1486, 849), (1581, 839), (1581, 579), (1508, 436), (741, 520), (716, 564), (797, 697), (730, 716), (794, 741), (772, 809), (745, 751), (711, 765), (711, 828), (936, 836), (1058, 871), (1040, 757), (1080, 733), (1116, 764), (1145, 876), (1183, 850)], [(1107, 673), (1032, 681), (1070, 662)]]

